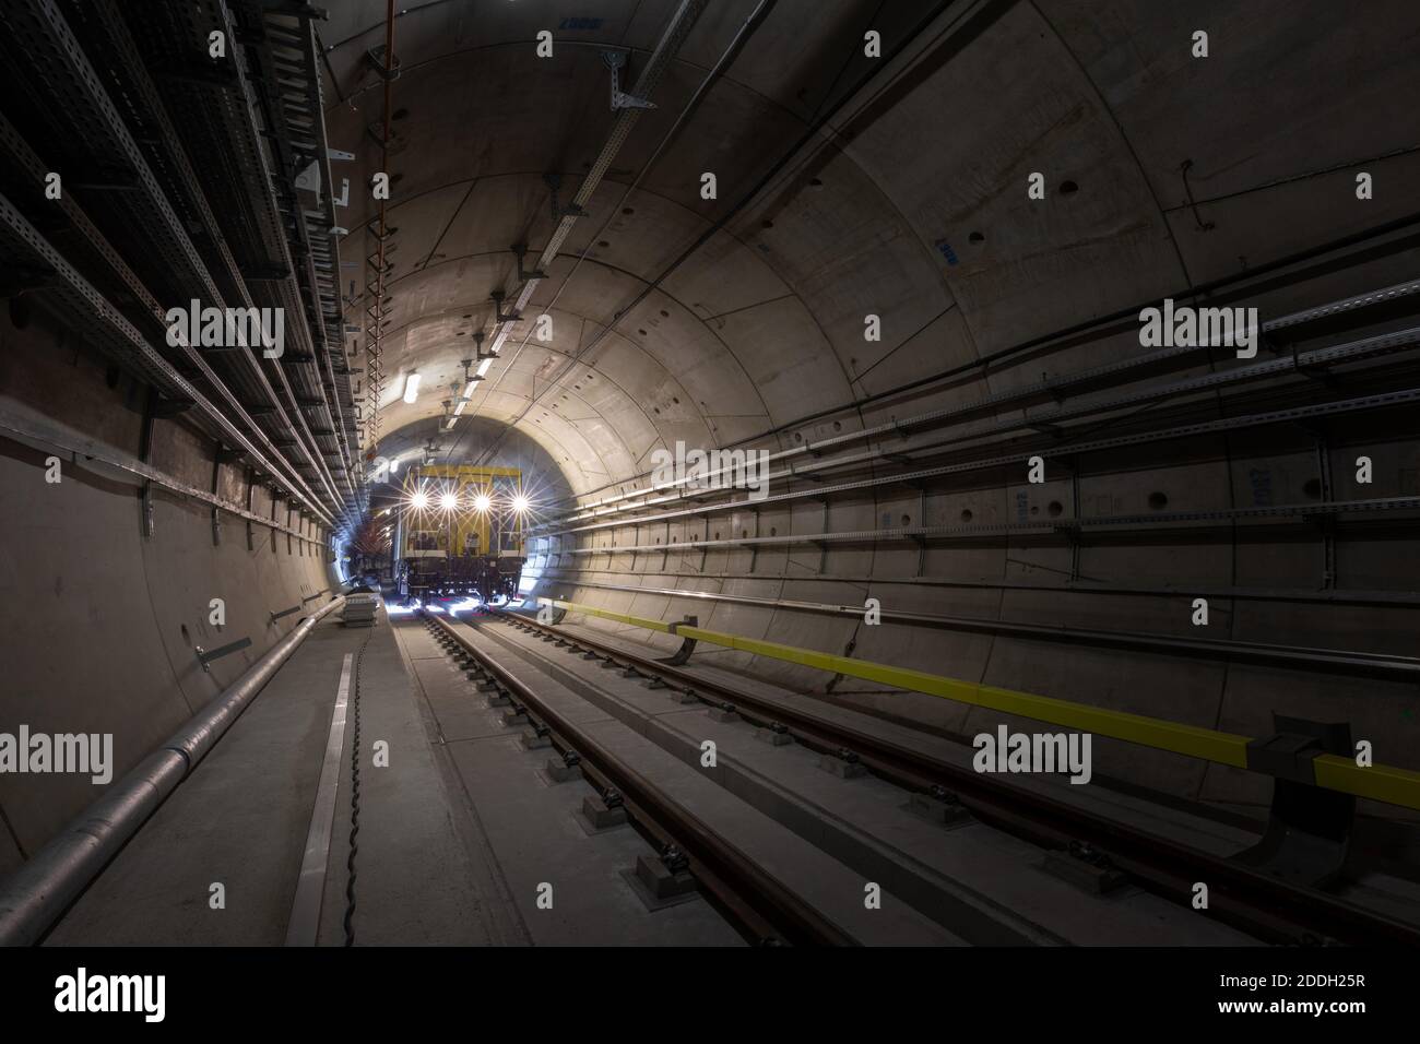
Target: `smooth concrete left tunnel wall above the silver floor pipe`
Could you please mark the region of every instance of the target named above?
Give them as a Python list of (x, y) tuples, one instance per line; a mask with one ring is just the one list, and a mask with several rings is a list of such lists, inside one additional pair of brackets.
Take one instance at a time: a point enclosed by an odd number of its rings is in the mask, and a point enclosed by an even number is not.
[[(142, 452), (146, 388), (88, 348), (82, 335), (36, 314), (20, 330), (0, 310), (0, 396), (7, 412), (31, 409), (132, 457)], [(327, 541), (293, 518), (301, 540), (223, 516), (213, 543), (207, 504), (152, 487), (153, 533), (143, 534), (141, 480), (84, 456), (3, 437), (0, 432), (0, 634), (6, 658), (0, 727), (112, 733), (114, 778), (236, 680), (335, 587)], [(153, 422), (151, 463), (212, 489), (216, 445), (182, 416)], [(60, 456), (58, 483), (45, 480)], [(220, 464), (219, 494), (247, 503), (240, 464)], [(251, 511), (270, 517), (257, 484)], [(287, 506), (275, 506), (285, 523)], [(210, 622), (222, 598), (226, 624)], [(305, 601), (311, 598), (311, 601)], [(203, 670), (195, 646), (251, 645)], [(325, 724), (317, 724), (324, 730)], [(18, 865), (101, 790), (89, 776), (0, 774), (0, 874)]]

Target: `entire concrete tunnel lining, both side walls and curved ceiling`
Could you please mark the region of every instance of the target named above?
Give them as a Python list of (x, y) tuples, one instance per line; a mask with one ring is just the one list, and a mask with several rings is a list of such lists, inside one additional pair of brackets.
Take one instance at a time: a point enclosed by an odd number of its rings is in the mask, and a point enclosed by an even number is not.
[[(540, 6), (477, 7), (477, 21), (467, 4), (430, 6), (399, 20), (382, 447), (413, 447), (437, 428), (473, 331), (494, 321), (490, 291), (517, 284), (510, 244), (528, 243), (535, 256), (555, 227), (544, 176), (559, 175), (565, 203), (591, 168), (608, 128), (598, 48), (625, 47), (633, 65), (645, 61), (673, 4), (608, 0), (596, 27), (559, 30), (551, 64), (535, 58), (530, 43), (547, 17)], [(1420, 41), (1416, 7), (1402, 0), (1376, 4), (1366, 18), (1339, 4), (1295, 0), (1245, 9), (1217, 0), (1187, 13), (1140, 0), (984, 4), (991, 17), (970, 31), (943, 17), (895, 60), (886, 89), (848, 107), (768, 190), (731, 213), (822, 114), (835, 85), (862, 75), (862, 26), (879, 18), (892, 53), (933, 7), (782, 0), (710, 88), (689, 129), (626, 195), (751, 7), (716, 3), (700, 16), (657, 88), (657, 109), (643, 114), (588, 202), (594, 220), (577, 224), (532, 298), (528, 315), (552, 315), (552, 341), (535, 339), (530, 321), (517, 324), (460, 422), (500, 425), (515, 432), (514, 443), (531, 440), (547, 453), (542, 466), (555, 464), (567, 489), (588, 499), (643, 487), (652, 453), (677, 440), (791, 449), (1129, 358), (1143, 351), (1136, 331), (889, 395), (1074, 322), (1245, 277), (1414, 207), (1406, 186), (1420, 178), (1420, 153), (1399, 131), (1413, 126), (1409, 68), (1376, 57), (1413, 53)], [(383, 4), (359, 0), (332, 7), (321, 26), (328, 139), (355, 153), (335, 168), (356, 186), (341, 212), (342, 224), (355, 230), (342, 243), (352, 259), (375, 246), (362, 232), (373, 202), (359, 186), (379, 169), (369, 128), (381, 116), (381, 81), (365, 54), (383, 40), (382, 20)], [(1197, 26), (1211, 33), (1207, 61), (1187, 57)], [(1299, 53), (1314, 60), (1296, 61)], [(1316, 75), (1318, 68), (1329, 74)], [(1216, 104), (1220, 98), (1228, 104)], [(1191, 161), (1187, 182), (1184, 161)], [(1365, 202), (1353, 190), (1360, 169), (1376, 182)], [(719, 173), (717, 200), (700, 197), (704, 170)], [(1025, 196), (1032, 170), (1047, 173), (1045, 205)], [(1074, 190), (1064, 190), (1066, 182)], [(709, 241), (660, 278), (706, 233)], [(1269, 318), (1420, 271), (1414, 247), (1346, 266), (1325, 260), (1258, 280), (1240, 303)], [(880, 317), (880, 342), (863, 339), (866, 314)], [(0, 395), (136, 456), (142, 389), (128, 376), (111, 386), (106, 365), (82, 338), (60, 330), (43, 315), (26, 330), (0, 315)], [(415, 371), (426, 392), (410, 405), (400, 399), (402, 379)], [(1204, 372), (1200, 365), (1179, 376)], [(885, 398), (863, 402), (875, 395)], [(1216, 406), (1218, 416), (1224, 410), (1210, 395), (1189, 402)], [(1003, 410), (998, 419), (1020, 415)], [(1375, 460), (1375, 483), (1363, 490), (1348, 484), (1349, 469), (1336, 463), (1335, 496), (1416, 494), (1414, 428), (1413, 418), (1394, 412), (1333, 420), (1336, 462), (1362, 452)], [(885, 453), (897, 446), (873, 445)], [(273, 624), (273, 611), (332, 584), (324, 534), (312, 531), (311, 544), (295, 541), (290, 550), (281, 535), (273, 548), (258, 527), (257, 547), (247, 551), (244, 526), (227, 520), (213, 545), (206, 506), (155, 490), (149, 540), (131, 480), (67, 460), (64, 482), (48, 487), (47, 452), (10, 440), (0, 449), (0, 531), (13, 551), (0, 567), (0, 624), (13, 651), (4, 723), (111, 730), (116, 773), (300, 619), (293, 614)], [(180, 416), (156, 422), (153, 462), (163, 469), (206, 487), (212, 453)], [(757, 524), (761, 533), (791, 534), (868, 530), (905, 517), (947, 524), (1147, 513), (1159, 510), (1154, 494), (1169, 510), (1304, 503), (1315, 499), (1308, 490), (1316, 477), (1308, 433), (1250, 429), (1088, 457), (1078, 491), (1056, 470), (1044, 486), (1027, 484), (1024, 473), (983, 473), (933, 486), (922, 499), (883, 487), (831, 499), (826, 507), (772, 506)], [(237, 467), (222, 466), (219, 482), (241, 500)], [(267, 490), (257, 489), (253, 510), (270, 510)], [(581, 535), (577, 547), (673, 547), (754, 526), (746, 513), (628, 524)], [(1304, 595), (1413, 594), (1417, 543), (1413, 533), (1373, 540), (1343, 531), (1331, 588), (1323, 587), (1319, 531), (1264, 543), (1245, 528), (1208, 540), (1177, 530), (1145, 543), (1103, 540), (1081, 548), (1078, 574), (1106, 585), (1294, 591), (1296, 599), (1214, 598), (1210, 636), (1413, 655), (1413, 605), (1339, 607)], [(846, 616), (606, 587), (835, 605), (875, 597), (899, 612), (1193, 635), (1186, 594), (1025, 587), (1071, 572), (1071, 550), (1039, 537), (932, 543), (920, 578), (917, 548), (895, 541), (831, 544), (822, 554), (805, 545), (753, 554), (746, 547), (577, 558), (537, 553), (531, 565), (544, 571), (540, 594), (643, 616), (696, 614), (713, 629), (836, 653), (852, 643), (862, 659), (1190, 724), (1262, 736), (1274, 710), (1345, 719), (1356, 736), (1375, 740), (1377, 760), (1420, 768), (1420, 722), (1406, 716), (1414, 692), (1400, 682), (943, 628), (869, 628)], [(220, 632), (206, 622), (213, 597), (227, 602)], [(197, 666), (193, 645), (244, 636), (251, 648), (217, 660), (210, 673)], [(814, 693), (829, 680), (727, 651), (703, 648), (697, 659)], [(997, 720), (851, 679), (834, 695), (957, 733)], [(1255, 807), (1268, 798), (1269, 783), (1260, 776), (1096, 743), (1100, 776), (1228, 804)], [(0, 777), (9, 824), (0, 831), (0, 872), (91, 797), (78, 777)]]

